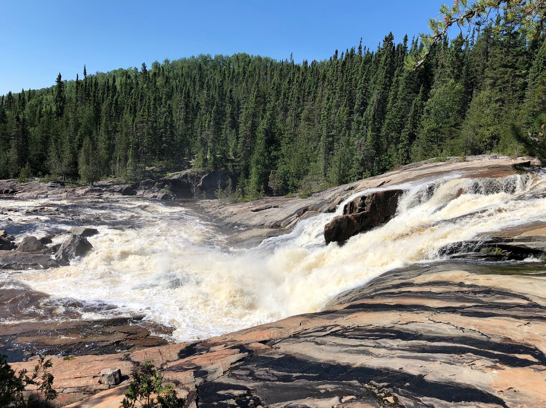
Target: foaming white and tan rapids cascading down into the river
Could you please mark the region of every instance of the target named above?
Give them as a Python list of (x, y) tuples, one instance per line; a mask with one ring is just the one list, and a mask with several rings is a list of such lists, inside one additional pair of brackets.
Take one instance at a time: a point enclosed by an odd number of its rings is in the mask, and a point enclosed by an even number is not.
[[(174, 340), (209, 337), (318, 311), (338, 293), (362, 285), (389, 269), (438, 259), (446, 245), (501, 227), (546, 220), (546, 175), (471, 179), (460, 174), (390, 186), (406, 193), (397, 215), (375, 230), (339, 247), (324, 244), (324, 225), (340, 214), (301, 221), (288, 235), (269, 238), (257, 248), (235, 249), (213, 224), (189, 209), (156, 201), (80, 200), (74, 211), (97, 220), (93, 250), (57, 269), (3, 272), (55, 297), (108, 303), (115, 308), (85, 318), (143, 314), (175, 328)], [(34, 223), (28, 233), (43, 236), (67, 230), (55, 214), (20, 210), (70, 205), (70, 201), (2, 200), (14, 223)], [(100, 220), (100, 222), (99, 222)], [(135, 225), (117, 230), (109, 221)], [(119, 223), (118, 222), (118, 223)], [(110, 225), (110, 226), (109, 226)], [(66, 235), (57, 237), (57, 242)]]

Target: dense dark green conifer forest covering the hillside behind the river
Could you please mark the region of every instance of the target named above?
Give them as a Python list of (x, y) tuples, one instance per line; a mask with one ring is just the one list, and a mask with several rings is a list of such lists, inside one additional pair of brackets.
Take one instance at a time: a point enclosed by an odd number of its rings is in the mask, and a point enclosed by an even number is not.
[[(471, 36), (472, 37), (472, 36)], [(319, 189), (411, 161), (521, 154), (540, 132), (546, 35), (485, 27), (436, 46), (387, 35), (327, 61), (201, 55), (118, 69), (0, 103), (0, 177), (138, 180), (153, 166), (226, 169), (242, 196)]]

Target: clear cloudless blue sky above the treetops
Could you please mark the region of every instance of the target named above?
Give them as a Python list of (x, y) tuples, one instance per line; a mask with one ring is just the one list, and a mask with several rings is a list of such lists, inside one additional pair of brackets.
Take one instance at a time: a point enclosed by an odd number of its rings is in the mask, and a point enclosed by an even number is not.
[(0, 0), (0, 95), (200, 53), (329, 58), (428, 31), (441, 0)]

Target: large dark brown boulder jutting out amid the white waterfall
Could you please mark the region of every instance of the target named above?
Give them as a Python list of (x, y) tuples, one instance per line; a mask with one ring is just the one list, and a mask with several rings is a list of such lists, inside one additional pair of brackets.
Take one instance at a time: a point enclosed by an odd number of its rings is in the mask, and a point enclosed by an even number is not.
[(324, 226), (324, 239), (330, 242), (345, 243), (360, 232), (369, 231), (394, 217), (398, 198), (403, 190), (377, 191), (357, 197), (343, 208), (339, 215)]

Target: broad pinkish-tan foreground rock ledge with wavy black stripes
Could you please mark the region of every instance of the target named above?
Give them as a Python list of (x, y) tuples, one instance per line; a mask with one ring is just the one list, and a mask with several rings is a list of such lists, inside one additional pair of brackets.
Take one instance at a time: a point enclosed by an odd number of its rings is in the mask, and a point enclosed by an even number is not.
[(56, 404), (118, 406), (128, 381), (112, 388), (100, 372), (127, 376), (153, 359), (188, 407), (544, 407), (545, 293), (536, 263), (397, 269), (319, 313), (194, 343), (53, 357)]

